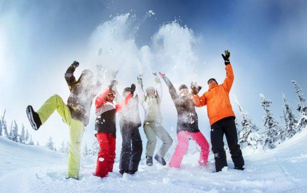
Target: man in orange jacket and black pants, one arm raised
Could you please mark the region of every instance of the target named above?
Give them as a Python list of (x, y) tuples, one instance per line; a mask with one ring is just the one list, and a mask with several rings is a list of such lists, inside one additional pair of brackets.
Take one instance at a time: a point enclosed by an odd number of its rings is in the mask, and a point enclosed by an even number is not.
[(230, 52), (225, 51), (222, 57), (226, 65), (226, 78), (222, 84), (218, 84), (214, 78), (208, 80), (209, 89), (202, 96), (198, 92), (202, 88), (196, 82), (191, 83), (192, 100), (196, 107), (207, 105), (208, 117), (211, 125), (211, 144), (214, 153), (216, 171), (221, 171), (227, 166), (226, 152), (223, 137), (226, 136), (234, 169), (243, 170), (244, 159), (238, 145), (237, 129), (235, 125), (235, 114), (229, 100), (229, 92), (234, 80), (232, 67), (229, 61)]

